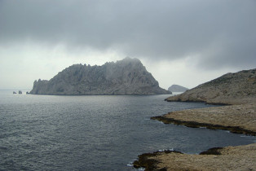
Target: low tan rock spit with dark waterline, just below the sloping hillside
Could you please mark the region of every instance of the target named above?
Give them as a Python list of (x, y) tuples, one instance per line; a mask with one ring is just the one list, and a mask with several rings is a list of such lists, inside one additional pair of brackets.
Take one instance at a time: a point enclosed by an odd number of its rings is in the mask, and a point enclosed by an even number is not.
[(236, 134), (256, 135), (256, 105), (254, 103), (189, 109), (154, 116), (152, 120), (192, 128), (229, 130)]

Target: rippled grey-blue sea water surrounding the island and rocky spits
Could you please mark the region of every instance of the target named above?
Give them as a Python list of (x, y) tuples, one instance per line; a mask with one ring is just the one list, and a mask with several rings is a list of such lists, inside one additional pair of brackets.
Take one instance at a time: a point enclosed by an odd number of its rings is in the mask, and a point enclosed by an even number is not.
[(167, 103), (169, 95), (51, 96), (0, 91), (0, 170), (132, 170), (141, 153), (255, 142), (223, 130), (150, 120), (167, 112), (210, 107)]

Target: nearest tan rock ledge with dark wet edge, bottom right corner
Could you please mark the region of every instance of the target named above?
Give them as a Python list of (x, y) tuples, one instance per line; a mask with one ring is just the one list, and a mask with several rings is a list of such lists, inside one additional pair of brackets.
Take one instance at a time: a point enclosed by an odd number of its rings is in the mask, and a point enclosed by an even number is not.
[(237, 147), (215, 147), (199, 155), (179, 151), (146, 153), (135, 160), (135, 168), (150, 170), (255, 170), (256, 143)]

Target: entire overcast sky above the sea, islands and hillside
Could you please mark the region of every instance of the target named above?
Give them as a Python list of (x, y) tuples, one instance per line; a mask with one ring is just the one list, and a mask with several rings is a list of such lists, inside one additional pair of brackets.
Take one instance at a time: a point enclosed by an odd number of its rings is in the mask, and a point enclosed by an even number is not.
[(0, 89), (140, 59), (162, 88), (256, 68), (255, 0), (0, 0)]

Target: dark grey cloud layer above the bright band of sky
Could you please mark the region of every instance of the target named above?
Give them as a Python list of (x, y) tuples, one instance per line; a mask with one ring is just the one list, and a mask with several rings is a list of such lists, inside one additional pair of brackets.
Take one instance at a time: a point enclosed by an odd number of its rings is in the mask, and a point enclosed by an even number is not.
[(254, 68), (255, 16), (254, 0), (0, 0), (0, 45), (32, 40)]

